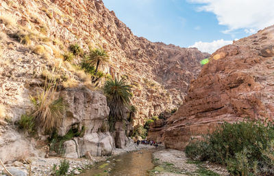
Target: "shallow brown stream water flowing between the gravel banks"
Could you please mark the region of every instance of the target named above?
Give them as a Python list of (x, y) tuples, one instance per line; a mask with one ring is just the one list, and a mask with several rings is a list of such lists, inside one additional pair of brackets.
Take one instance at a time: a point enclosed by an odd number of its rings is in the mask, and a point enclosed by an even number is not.
[(110, 163), (99, 162), (92, 169), (81, 175), (149, 175), (148, 170), (154, 167), (152, 152), (142, 150), (125, 153), (121, 156), (110, 158)]

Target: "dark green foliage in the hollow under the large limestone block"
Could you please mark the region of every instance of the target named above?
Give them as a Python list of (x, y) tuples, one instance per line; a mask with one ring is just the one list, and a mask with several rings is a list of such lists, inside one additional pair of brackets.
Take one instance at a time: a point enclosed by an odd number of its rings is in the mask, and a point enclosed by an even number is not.
[(66, 141), (71, 140), (75, 137), (82, 137), (85, 133), (85, 126), (82, 126), (81, 130), (79, 130), (79, 126), (72, 126), (69, 132), (67, 132), (64, 136), (58, 136), (56, 131), (53, 131), (51, 137), (48, 139), (50, 143), (50, 150), (55, 151), (56, 153), (63, 154), (63, 144)]

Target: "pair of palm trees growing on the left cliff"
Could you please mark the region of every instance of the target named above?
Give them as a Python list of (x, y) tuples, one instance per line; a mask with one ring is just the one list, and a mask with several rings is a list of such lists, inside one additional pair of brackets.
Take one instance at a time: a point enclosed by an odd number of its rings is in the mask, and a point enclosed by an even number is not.
[[(82, 67), (92, 72), (92, 83), (97, 83), (100, 78), (97, 75), (99, 68), (102, 68), (109, 60), (108, 53), (101, 46), (90, 49), (90, 52), (82, 62)], [(136, 108), (129, 105), (132, 98), (131, 89), (124, 79), (110, 78), (105, 81), (103, 91), (108, 98), (108, 106), (110, 107), (108, 119), (110, 130), (114, 130), (115, 122), (121, 121), (125, 117), (126, 108), (129, 110), (129, 121), (132, 119), (132, 115), (136, 113)]]

